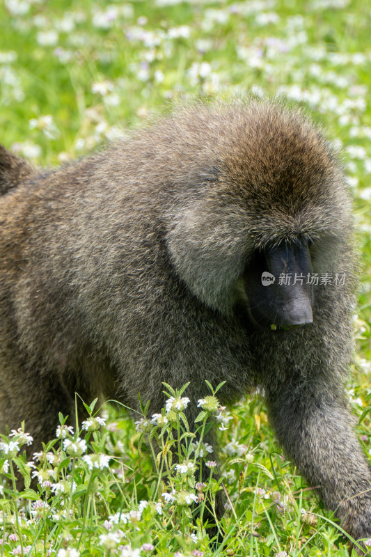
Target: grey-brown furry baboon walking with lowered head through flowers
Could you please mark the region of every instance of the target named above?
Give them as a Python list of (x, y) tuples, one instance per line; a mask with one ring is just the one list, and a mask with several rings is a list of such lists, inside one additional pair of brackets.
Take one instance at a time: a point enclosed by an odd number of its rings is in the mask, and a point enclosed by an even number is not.
[(285, 453), (371, 537), (351, 203), (324, 134), (276, 102), (196, 104), (54, 171), (0, 157), (0, 427), (38, 446), (75, 391), (152, 414), (190, 381), (192, 419), (205, 379), (223, 405), (260, 386)]

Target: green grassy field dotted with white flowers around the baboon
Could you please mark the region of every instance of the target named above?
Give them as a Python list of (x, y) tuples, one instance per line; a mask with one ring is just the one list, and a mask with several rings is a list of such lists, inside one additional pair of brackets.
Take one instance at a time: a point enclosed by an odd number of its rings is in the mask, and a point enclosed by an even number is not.
[[(329, 130), (347, 167), (363, 256), (348, 392), (366, 453), (371, 447), (370, 29), (370, 0), (0, 3), (0, 142), (36, 165), (80, 157), (194, 97), (281, 95)], [(93, 416), (95, 411), (91, 408)], [(211, 414), (204, 408), (200, 425)], [(214, 501), (215, 453), (209, 446), (192, 446), (182, 412), (168, 423), (158, 418), (134, 424), (113, 409), (103, 416), (101, 429), (97, 416), (80, 432), (62, 425), (31, 463), (21, 455), (30, 442), (25, 434), (0, 441), (0, 557), (349, 554), (331, 513), (274, 444), (259, 398), (220, 418), (228, 512), (218, 543), (196, 513), (202, 515)], [(151, 432), (150, 450), (141, 443), (144, 432)], [(150, 452), (156, 444), (164, 458), (154, 469)], [(171, 452), (183, 454), (179, 469), (171, 469)], [(198, 483), (201, 466), (210, 469), (207, 485)], [(17, 469), (26, 478), (22, 494), (14, 483)], [(165, 483), (161, 474), (167, 469)], [(38, 478), (38, 489), (31, 489), (30, 476)]]

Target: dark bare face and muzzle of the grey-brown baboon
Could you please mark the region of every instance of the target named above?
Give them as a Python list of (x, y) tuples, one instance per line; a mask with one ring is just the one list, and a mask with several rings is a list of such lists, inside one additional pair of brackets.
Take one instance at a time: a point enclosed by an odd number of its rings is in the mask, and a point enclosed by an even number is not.
[(244, 272), (250, 317), (260, 327), (290, 329), (313, 321), (308, 240), (255, 251)]

